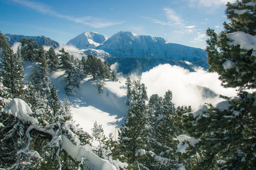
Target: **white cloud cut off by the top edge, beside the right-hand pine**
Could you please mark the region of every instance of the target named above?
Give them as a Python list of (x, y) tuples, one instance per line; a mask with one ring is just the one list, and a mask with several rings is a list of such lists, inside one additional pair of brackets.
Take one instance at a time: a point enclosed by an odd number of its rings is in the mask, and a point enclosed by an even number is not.
[(227, 4), (227, 2), (234, 3), (236, 0), (188, 0), (191, 7), (207, 7), (218, 8), (221, 5)]

